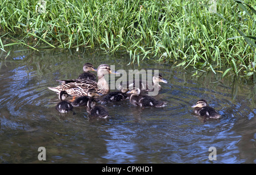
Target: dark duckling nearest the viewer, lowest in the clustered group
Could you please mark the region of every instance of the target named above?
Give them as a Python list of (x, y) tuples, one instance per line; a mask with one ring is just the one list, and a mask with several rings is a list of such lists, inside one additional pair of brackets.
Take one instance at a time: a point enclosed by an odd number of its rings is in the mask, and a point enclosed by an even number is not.
[(86, 111), (89, 114), (89, 118), (108, 118), (109, 116), (108, 110), (101, 105), (96, 105), (94, 98), (88, 100)]

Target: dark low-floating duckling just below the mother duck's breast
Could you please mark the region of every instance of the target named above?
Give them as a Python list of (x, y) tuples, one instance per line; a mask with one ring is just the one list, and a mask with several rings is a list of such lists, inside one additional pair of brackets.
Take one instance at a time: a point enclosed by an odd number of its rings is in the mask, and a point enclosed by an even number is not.
[(104, 97), (102, 97), (99, 101), (100, 103), (109, 103), (109, 102), (117, 102), (128, 99), (130, 94), (123, 93), (123, 92), (110, 92)]

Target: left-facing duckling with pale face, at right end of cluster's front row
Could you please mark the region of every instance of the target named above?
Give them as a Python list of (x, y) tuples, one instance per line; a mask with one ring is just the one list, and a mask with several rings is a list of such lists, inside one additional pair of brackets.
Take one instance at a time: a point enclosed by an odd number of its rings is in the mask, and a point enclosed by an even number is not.
[(130, 96), (130, 103), (135, 106), (163, 107), (166, 105), (166, 102), (164, 101), (158, 101), (151, 96), (142, 95), (141, 89), (139, 88), (128, 91), (127, 93), (132, 93)]

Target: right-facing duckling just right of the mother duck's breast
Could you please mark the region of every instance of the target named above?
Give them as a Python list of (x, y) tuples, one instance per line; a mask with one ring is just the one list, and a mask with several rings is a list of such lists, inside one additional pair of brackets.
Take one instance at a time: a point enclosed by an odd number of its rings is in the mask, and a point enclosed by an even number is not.
[[(154, 88), (158, 88), (159, 91), (162, 88), (160, 86), (159, 82), (168, 83), (167, 80), (163, 79), (162, 75), (160, 75), (160, 74), (155, 74), (152, 77), (152, 82), (153, 82), (153, 84), (151, 86)], [(133, 83), (130, 83), (130, 84), (129, 84), (129, 82), (127, 82), (127, 86), (125, 86), (125, 85), (122, 86), (122, 84), (121, 84), (120, 87), (122, 87), (121, 92), (127, 92), (127, 91), (129, 91), (129, 89), (135, 89), (135, 88), (140, 88), (143, 91), (154, 91), (154, 88), (151, 88), (148, 85), (148, 82), (142, 81), (142, 80), (139, 80), (139, 87), (136, 84), (135, 80), (133, 81)]]

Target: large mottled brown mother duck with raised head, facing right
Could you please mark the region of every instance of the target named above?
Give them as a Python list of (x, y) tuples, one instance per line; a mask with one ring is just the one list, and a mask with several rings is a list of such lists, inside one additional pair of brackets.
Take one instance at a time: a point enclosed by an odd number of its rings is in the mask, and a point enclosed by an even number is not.
[(95, 89), (105, 95), (109, 92), (109, 83), (104, 78), (105, 74), (117, 74), (117, 72), (111, 70), (109, 65), (100, 65), (97, 69), (98, 82), (89, 79), (57, 80), (61, 82), (60, 86), (48, 88), (57, 93), (66, 91), (71, 96), (87, 96), (88, 89)]

